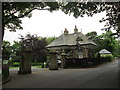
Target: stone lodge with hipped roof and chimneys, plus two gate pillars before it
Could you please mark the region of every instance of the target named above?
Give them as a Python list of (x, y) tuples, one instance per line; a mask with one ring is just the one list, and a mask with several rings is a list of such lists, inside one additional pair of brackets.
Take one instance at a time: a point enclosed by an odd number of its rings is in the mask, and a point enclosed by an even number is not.
[(78, 32), (76, 26), (72, 34), (65, 29), (62, 35), (47, 46), (50, 55), (49, 69), (57, 69), (57, 59), (61, 60), (61, 67), (64, 68), (66, 59), (92, 58), (96, 46), (82, 32)]

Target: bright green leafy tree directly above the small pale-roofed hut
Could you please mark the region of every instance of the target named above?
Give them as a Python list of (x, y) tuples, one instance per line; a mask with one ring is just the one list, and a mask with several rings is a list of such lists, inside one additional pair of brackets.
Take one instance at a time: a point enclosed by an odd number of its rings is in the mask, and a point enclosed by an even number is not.
[(119, 53), (119, 41), (116, 40), (115, 37), (111, 36), (112, 32), (106, 32), (102, 35), (96, 36), (94, 38), (95, 43), (98, 45), (97, 51), (101, 49), (107, 49), (108, 51), (112, 52), (114, 56), (118, 56)]

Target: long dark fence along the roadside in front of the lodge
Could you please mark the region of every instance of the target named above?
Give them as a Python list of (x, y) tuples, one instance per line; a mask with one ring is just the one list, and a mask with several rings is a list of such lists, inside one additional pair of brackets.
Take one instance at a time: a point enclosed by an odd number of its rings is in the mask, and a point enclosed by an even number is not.
[[(66, 58), (66, 67), (82, 67), (88, 65), (98, 65), (105, 62), (111, 62), (113, 58), (111, 57), (101, 57), (101, 58)], [(91, 64), (89, 64), (91, 63)]]

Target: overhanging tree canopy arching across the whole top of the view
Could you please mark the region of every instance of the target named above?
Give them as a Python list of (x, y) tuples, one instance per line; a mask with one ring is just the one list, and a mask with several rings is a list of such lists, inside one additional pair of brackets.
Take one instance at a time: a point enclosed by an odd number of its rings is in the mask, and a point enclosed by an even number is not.
[(107, 18), (102, 18), (100, 22), (108, 21), (105, 25), (105, 30), (109, 31), (111, 27), (114, 27), (118, 35), (120, 33), (120, 20), (119, 3), (118, 2), (3, 2), (3, 29), (2, 37), (4, 36), (5, 28), (10, 31), (16, 31), (16, 29), (22, 29), (21, 19), (23, 17), (30, 17), (30, 13), (37, 10), (54, 10), (61, 9), (65, 14), (73, 14), (74, 17), (84, 17), (85, 14), (93, 16), (96, 13), (106, 11)]

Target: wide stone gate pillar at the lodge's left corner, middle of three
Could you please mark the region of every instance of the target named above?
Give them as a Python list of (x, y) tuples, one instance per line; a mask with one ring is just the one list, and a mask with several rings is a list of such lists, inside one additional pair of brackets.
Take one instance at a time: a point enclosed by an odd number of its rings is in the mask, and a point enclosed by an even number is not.
[(58, 70), (57, 52), (56, 51), (50, 51), (49, 56), (50, 56), (49, 70)]

